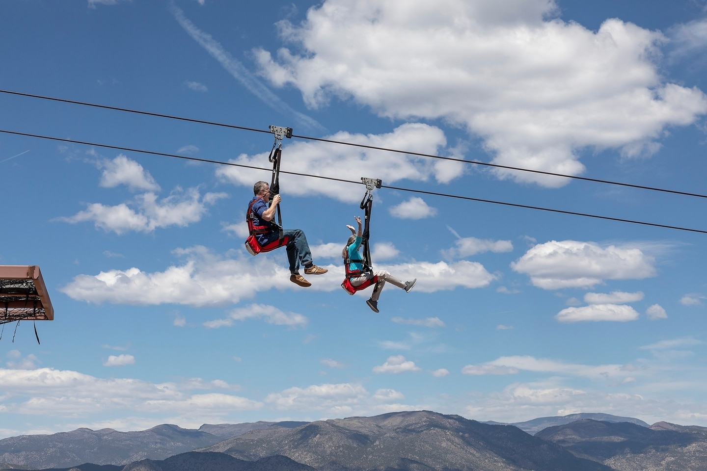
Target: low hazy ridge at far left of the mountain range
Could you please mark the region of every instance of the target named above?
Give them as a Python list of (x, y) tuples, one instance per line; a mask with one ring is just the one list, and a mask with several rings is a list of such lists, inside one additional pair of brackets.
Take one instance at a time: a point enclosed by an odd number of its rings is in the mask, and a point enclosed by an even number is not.
[(0, 440), (0, 463), (11, 463), (6, 469), (45, 470), (81, 463), (127, 465), (144, 459), (163, 460), (252, 429), (280, 427), (280, 423), (293, 427), (298, 422), (204, 424), (199, 430), (162, 424), (143, 431), (76, 429), (51, 435), (13, 436)]

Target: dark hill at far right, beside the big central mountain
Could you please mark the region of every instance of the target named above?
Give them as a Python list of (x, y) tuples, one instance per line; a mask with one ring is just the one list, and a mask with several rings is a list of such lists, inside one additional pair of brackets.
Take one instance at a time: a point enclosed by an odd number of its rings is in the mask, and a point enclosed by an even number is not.
[(707, 471), (707, 428), (580, 420), (535, 436), (616, 470)]

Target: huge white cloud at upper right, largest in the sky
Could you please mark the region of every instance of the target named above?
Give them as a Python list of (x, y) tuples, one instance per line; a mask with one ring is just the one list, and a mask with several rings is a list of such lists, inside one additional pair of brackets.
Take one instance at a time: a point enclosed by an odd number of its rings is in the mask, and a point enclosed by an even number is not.
[(700, 90), (662, 78), (660, 32), (615, 18), (592, 31), (556, 11), (554, 0), (326, 0), (299, 25), (279, 22), (291, 49), (255, 56), (310, 107), (350, 98), (382, 117), (447, 119), (481, 136), (497, 164), (562, 174), (584, 171), (587, 147), (650, 155), (667, 127), (707, 112)]

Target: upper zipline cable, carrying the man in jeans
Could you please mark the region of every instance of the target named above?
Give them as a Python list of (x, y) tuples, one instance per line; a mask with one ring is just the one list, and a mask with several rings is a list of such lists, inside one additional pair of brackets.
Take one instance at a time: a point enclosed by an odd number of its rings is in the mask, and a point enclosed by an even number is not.
[[(224, 123), (218, 123), (215, 121), (204, 121), (201, 119), (178, 117), (178, 116), (173, 116), (170, 114), (145, 112), (145, 111), (140, 111), (140, 110), (136, 110), (136, 109), (112, 107), (112, 106), (108, 106), (108, 105), (97, 105), (95, 103), (79, 102), (76, 100), (66, 100), (65, 98), (47, 97), (44, 95), (35, 95), (32, 93), (21, 93), (21, 92), (15, 92), (12, 90), (0, 90), (0, 93), (6, 93), (9, 95), (18, 95), (18, 96), (22, 96), (22, 97), (40, 98), (41, 100), (52, 100), (55, 102), (71, 103), (73, 105), (82, 105), (82, 106), (87, 106), (87, 107), (112, 109), (115, 111), (122, 111), (122, 112), (128, 112), (128, 113), (144, 114), (144, 115), (152, 116), (152, 117), (177, 119), (180, 121), (188, 121), (188, 122), (192, 122), (192, 123), (208, 124), (209, 126), (221, 126), (221, 127), (230, 128), (230, 129), (241, 129), (243, 131), (255, 131), (255, 132), (259, 132), (259, 133), (269, 133), (270, 132), (270, 131), (266, 131), (264, 129), (250, 128), (247, 126), (236, 126), (235, 124), (224, 124)], [(513, 167), (510, 165), (492, 164), (490, 162), (481, 162), (480, 160), (464, 160), (464, 159), (460, 159), (457, 157), (444, 157), (443, 155), (412, 152), (410, 150), (392, 149), (392, 148), (378, 147), (376, 145), (350, 143), (350, 142), (346, 142), (346, 141), (334, 141), (332, 139), (315, 138), (312, 136), (299, 136), (297, 134), (293, 134), (292, 137), (299, 138), (299, 139), (305, 139), (308, 141), (320, 141), (320, 142), (332, 143), (332, 144), (337, 144), (337, 145), (349, 145), (351, 147), (366, 148), (366, 149), (371, 149), (371, 150), (382, 150), (382, 151), (391, 152), (391, 153), (416, 155), (418, 157), (430, 157), (433, 159), (450, 160), (452, 162), (462, 162), (462, 163), (471, 164), (471, 165), (482, 165), (485, 167), (494, 167), (494, 168), (499, 168), (499, 169), (515, 170), (518, 172), (530, 172), (530, 173), (535, 173), (535, 174), (548, 175), (551, 177), (562, 177), (562, 178), (582, 180), (582, 181), (592, 181), (595, 183), (603, 183), (603, 184), (617, 185), (617, 186), (626, 186), (629, 188), (636, 188), (636, 189), (643, 189), (643, 190), (650, 190), (650, 191), (661, 191), (663, 193), (672, 193), (672, 194), (677, 194), (677, 195), (682, 195), (682, 196), (695, 196), (697, 198), (707, 198), (707, 195), (703, 195), (700, 193), (690, 193), (688, 191), (664, 189), (664, 188), (658, 188), (655, 186), (636, 185), (636, 184), (624, 183), (621, 181), (611, 181), (611, 180), (603, 180), (603, 179), (596, 179), (596, 178), (590, 178), (590, 177), (579, 177), (577, 175), (566, 175), (566, 174), (559, 174), (559, 173), (554, 173), (554, 172), (545, 172), (544, 170), (525, 169), (522, 167)]]

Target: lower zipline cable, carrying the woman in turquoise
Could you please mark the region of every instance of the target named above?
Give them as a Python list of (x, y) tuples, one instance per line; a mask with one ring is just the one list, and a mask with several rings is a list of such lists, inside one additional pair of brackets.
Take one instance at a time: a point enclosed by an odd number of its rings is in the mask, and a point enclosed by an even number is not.
[[(231, 167), (243, 167), (243, 168), (247, 168), (247, 169), (265, 170), (267, 172), (271, 171), (271, 169), (268, 169), (268, 168), (255, 167), (253, 165), (237, 164), (235, 162), (223, 162), (221, 160), (201, 159), (199, 157), (188, 157), (186, 155), (154, 152), (152, 150), (133, 149), (133, 148), (121, 147), (118, 145), (90, 143), (90, 142), (86, 142), (86, 141), (76, 141), (74, 139), (57, 138), (57, 137), (52, 137), (52, 136), (41, 136), (39, 134), (21, 133), (18, 131), (7, 131), (5, 129), (0, 129), (0, 133), (13, 134), (15, 136), (25, 136), (25, 137), (31, 137), (31, 138), (47, 139), (50, 141), (61, 141), (61, 142), (73, 143), (73, 144), (93, 145), (95, 147), (102, 147), (102, 148), (116, 149), (116, 150), (125, 150), (127, 152), (136, 152), (136, 153), (143, 153), (143, 154), (150, 154), (150, 155), (160, 155), (162, 157), (175, 157), (175, 158), (185, 159), (185, 160), (195, 160), (197, 162), (209, 162), (212, 164), (228, 165)], [(363, 182), (361, 182), (361, 181), (347, 180), (347, 179), (341, 179), (341, 178), (335, 178), (335, 177), (324, 177), (322, 175), (312, 175), (312, 174), (305, 174), (305, 173), (300, 173), (300, 172), (289, 172), (286, 170), (280, 170), (280, 172), (284, 173), (284, 174), (289, 174), (289, 175), (297, 175), (299, 177), (310, 177), (310, 178), (327, 179), (327, 180), (332, 180), (332, 181), (342, 181), (344, 183), (355, 183), (355, 184), (359, 184), (359, 185), (363, 184)], [(426, 195), (431, 195), (431, 196), (443, 196), (446, 198), (456, 198), (456, 199), (462, 199), (462, 200), (467, 200), (467, 201), (478, 201), (480, 203), (491, 203), (491, 204), (498, 204), (498, 205), (505, 205), (505, 206), (513, 206), (515, 208), (534, 209), (534, 210), (540, 210), (540, 211), (549, 211), (551, 213), (561, 213), (561, 214), (583, 216), (583, 217), (594, 217), (596, 219), (603, 219), (603, 220), (610, 220), (610, 221), (617, 221), (617, 222), (629, 222), (631, 224), (638, 224), (638, 225), (645, 225), (645, 226), (652, 226), (652, 227), (663, 227), (665, 229), (675, 229), (675, 230), (679, 230), (679, 231), (698, 232), (700, 234), (707, 234), (707, 230), (691, 229), (689, 227), (679, 227), (679, 226), (671, 226), (671, 225), (665, 225), (665, 224), (657, 224), (655, 222), (644, 222), (644, 221), (630, 220), (630, 219), (624, 219), (621, 217), (609, 217), (609, 216), (594, 215), (594, 214), (588, 214), (588, 213), (576, 213), (575, 211), (566, 211), (566, 210), (559, 210), (559, 209), (553, 209), (553, 208), (543, 208), (542, 206), (522, 205), (519, 203), (508, 203), (505, 201), (494, 201), (494, 200), (487, 200), (487, 199), (483, 199), (483, 198), (473, 198), (471, 196), (452, 195), (449, 193), (436, 193), (434, 191), (415, 190), (415, 189), (409, 189), (409, 188), (401, 188), (399, 186), (381, 185), (381, 188), (387, 188), (387, 189), (399, 190), (399, 191), (408, 191), (411, 193), (421, 193), (421, 194), (426, 194)]]

